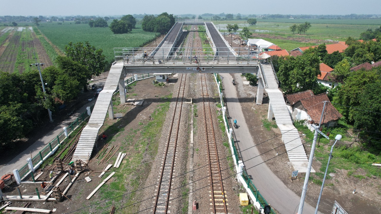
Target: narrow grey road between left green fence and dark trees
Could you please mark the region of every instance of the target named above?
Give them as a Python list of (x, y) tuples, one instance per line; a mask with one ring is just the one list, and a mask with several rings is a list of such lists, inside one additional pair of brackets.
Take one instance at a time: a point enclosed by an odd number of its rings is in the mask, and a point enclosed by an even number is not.
[[(91, 83), (91, 85), (95, 83), (96, 85), (98, 85), (98, 88), (99, 88), (99, 87), (103, 87), (105, 82), (106, 82), (106, 79), (99, 80), (99, 81)], [(28, 149), (21, 152), (19, 155), (14, 157), (8, 163), (0, 165), (0, 175), (2, 176), (8, 172), (12, 172), (13, 169), (20, 169), (22, 166), (24, 166), (27, 163), (26, 159), (30, 158), (30, 152), (32, 152), (32, 157), (37, 155), (37, 153), (40, 150), (42, 150), (43, 147), (48, 145), (50, 141), (52, 141), (54, 138), (56, 138), (57, 135), (63, 131), (62, 128), (64, 128), (65, 126), (68, 126), (68, 125), (70, 125), (70, 123), (74, 122), (83, 112), (86, 111), (86, 107), (93, 105), (95, 103), (95, 101), (96, 101), (96, 99), (94, 99), (91, 102), (88, 102), (85, 105), (83, 105), (83, 107), (81, 107), (81, 109), (74, 112), (72, 115), (70, 115), (69, 118), (62, 121), (62, 123), (60, 125), (56, 126), (56, 128), (54, 128), (48, 134), (46, 134), (45, 136), (38, 139), (34, 144), (30, 145), (28, 147)], [(53, 116), (53, 120), (54, 120), (54, 116)]]

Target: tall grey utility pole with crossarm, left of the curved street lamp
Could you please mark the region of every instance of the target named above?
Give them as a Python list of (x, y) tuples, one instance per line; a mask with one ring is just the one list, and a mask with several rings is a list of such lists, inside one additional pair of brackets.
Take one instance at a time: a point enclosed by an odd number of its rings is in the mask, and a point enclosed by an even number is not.
[[(306, 199), (306, 194), (307, 194), (308, 179), (309, 179), (309, 176), (310, 176), (310, 173), (311, 173), (312, 160), (314, 158), (314, 153), (315, 153), (317, 135), (318, 135), (318, 133), (323, 134), (319, 130), (319, 128), (322, 125), (322, 119), (323, 119), (325, 104), (327, 103), (327, 101), (323, 101), (323, 103), (324, 103), (324, 105), (323, 105), (322, 115), (320, 116), (319, 126), (318, 127), (315, 126), (314, 140), (312, 141), (310, 159), (308, 160), (306, 177), (304, 178), (304, 185), (303, 185), (302, 196), (300, 198), (298, 214), (302, 214), (302, 212), (303, 212), (304, 200)], [(323, 134), (323, 136), (325, 136), (325, 134)], [(325, 136), (325, 137), (327, 137), (327, 136)], [(329, 137), (327, 137), (327, 138), (329, 139)]]

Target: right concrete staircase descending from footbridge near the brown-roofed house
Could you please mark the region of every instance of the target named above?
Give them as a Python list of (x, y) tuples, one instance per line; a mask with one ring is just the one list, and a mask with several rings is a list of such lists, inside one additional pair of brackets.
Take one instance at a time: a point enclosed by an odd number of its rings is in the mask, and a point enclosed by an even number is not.
[[(299, 138), (298, 130), (292, 123), (290, 113), (283, 98), (283, 93), (278, 89), (278, 82), (275, 78), (271, 65), (261, 64), (265, 90), (269, 94), (270, 104), (274, 112), (275, 121), (282, 133), (282, 141), (285, 144), (288, 159), (293, 164), (295, 170), (306, 172), (308, 159), (304, 146)], [(271, 115), (272, 117), (272, 115)]]

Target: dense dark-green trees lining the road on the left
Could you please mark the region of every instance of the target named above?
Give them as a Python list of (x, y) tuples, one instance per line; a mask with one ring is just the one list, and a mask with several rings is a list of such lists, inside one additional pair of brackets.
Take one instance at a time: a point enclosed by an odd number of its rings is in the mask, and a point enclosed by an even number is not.
[(88, 42), (69, 43), (65, 54), (57, 57), (57, 66), (42, 69), (46, 93), (35, 66), (21, 74), (0, 72), (0, 147), (25, 137), (41, 123), (44, 109), (58, 112), (63, 103), (87, 91), (92, 75), (104, 72), (106, 57)]

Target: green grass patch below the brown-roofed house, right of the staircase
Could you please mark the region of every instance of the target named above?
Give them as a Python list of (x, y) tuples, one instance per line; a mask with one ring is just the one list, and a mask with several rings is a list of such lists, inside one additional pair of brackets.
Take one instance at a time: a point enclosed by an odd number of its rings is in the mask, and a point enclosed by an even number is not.
[[(307, 126), (303, 125), (304, 121), (296, 121), (295, 126), (298, 128), (298, 131), (301, 131), (303, 134), (306, 134), (307, 144), (312, 145), (312, 139), (314, 138), (314, 132), (311, 132)], [(327, 174), (335, 173), (337, 169), (348, 170), (348, 176), (354, 176), (359, 179), (365, 178), (365, 176), (356, 175), (355, 172), (357, 169), (361, 168), (365, 171), (367, 176), (377, 176), (381, 177), (381, 172), (377, 167), (371, 165), (374, 162), (381, 162), (381, 157), (379, 155), (374, 155), (366, 150), (363, 150), (359, 146), (346, 147), (346, 142), (352, 142), (350, 133), (347, 132), (347, 129), (344, 128), (323, 128), (323, 133), (331, 133), (331, 140), (321, 137), (318, 139), (319, 145), (315, 149), (315, 157), (322, 163), (320, 172), (325, 172), (325, 168), (328, 162), (328, 154), (331, 150), (331, 145), (334, 142), (334, 137), (336, 134), (341, 134), (343, 138), (339, 141), (338, 145), (333, 148), (333, 158), (330, 161), (330, 166), (328, 168)], [(331, 177), (327, 176), (327, 179)]]

